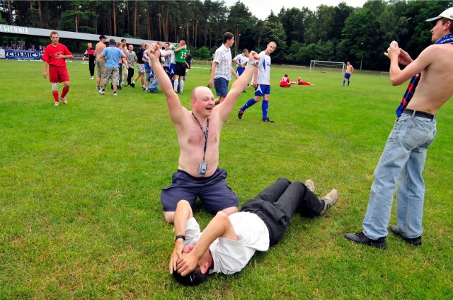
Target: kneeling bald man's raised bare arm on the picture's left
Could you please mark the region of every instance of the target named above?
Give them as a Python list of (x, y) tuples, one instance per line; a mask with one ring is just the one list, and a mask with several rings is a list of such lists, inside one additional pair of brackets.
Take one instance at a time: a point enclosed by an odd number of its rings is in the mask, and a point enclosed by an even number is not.
[(148, 48), (148, 55), (153, 66), (154, 75), (161, 85), (162, 91), (164, 91), (171, 121), (173, 121), (173, 123), (175, 124), (180, 123), (183, 120), (183, 114), (186, 109), (181, 105), (178, 95), (175, 93), (175, 91), (173, 91), (171, 81), (168, 78), (164, 67), (162, 67), (161, 65), (161, 51), (159, 45), (151, 44)]

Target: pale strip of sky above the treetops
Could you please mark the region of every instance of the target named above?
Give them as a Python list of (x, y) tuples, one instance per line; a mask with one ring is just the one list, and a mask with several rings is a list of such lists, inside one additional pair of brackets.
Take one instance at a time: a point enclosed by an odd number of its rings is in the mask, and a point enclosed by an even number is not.
[[(232, 6), (237, 0), (224, 0), (226, 6)], [(328, 6), (337, 6), (341, 2), (346, 2), (352, 7), (362, 7), (366, 0), (239, 0), (250, 9), (253, 16), (264, 20), (270, 14), (270, 10), (277, 15), (282, 7), (285, 9), (291, 9), (296, 7), (302, 9), (302, 7), (308, 7), (311, 11), (316, 11), (316, 8), (321, 4)]]

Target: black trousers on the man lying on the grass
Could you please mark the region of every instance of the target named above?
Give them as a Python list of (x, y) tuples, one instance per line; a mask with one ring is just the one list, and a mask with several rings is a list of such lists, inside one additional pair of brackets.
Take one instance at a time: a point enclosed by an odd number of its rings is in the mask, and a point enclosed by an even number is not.
[(259, 216), (268, 227), (270, 246), (277, 244), (285, 235), (292, 215), (298, 211), (304, 216), (319, 216), (324, 201), (311, 192), (302, 182), (277, 179), (263, 189), (254, 199), (242, 204), (241, 211)]

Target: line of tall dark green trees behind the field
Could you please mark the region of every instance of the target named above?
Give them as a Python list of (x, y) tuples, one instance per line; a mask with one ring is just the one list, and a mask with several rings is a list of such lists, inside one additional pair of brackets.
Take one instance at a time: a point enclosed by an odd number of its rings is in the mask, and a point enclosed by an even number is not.
[[(240, 1), (0, 1), (0, 23), (55, 30), (178, 42), (184, 39), (199, 59), (209, 59), (234, 33), (233, 54), (243, 48), (263, 50), (275, 40), (273, 62), (309, 65), (310, 60), (350, 60), (357, 69), (387, 70), (382, 53), (391, 40), (416, 57), (430, 45), (427, 18), (439, 15), (453, 1), (347, 2), (270, 11), (265, 20), (253, 16)], [(84, 45), (77, 47), (84, 48)], [(81, 51), (83, 49), (76, 49)]]

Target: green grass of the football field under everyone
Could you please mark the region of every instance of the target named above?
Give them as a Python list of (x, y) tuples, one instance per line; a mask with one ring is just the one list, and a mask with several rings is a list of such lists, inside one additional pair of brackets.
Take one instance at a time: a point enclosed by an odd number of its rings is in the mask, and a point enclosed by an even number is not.
[[(386, 250), (368, 248), (343, 234), (361, 229), (406, 84), (355, 72), (341, 87), (338, 73), (273, 67), (276, 122), (261, 122), (260, 104), (237, 118), (247, 89), (223, 127), (219, 167), (240, 204), (278, 177), (314, 179), (317, 194), (335, 187), (340, 199), (320, 218), (294, 216), (281, 243), (242, 272), (188, 288), (168, 274), (173, 226), (160, 193), (179, 151), (164, 94), (101, 96), (88, 65), (69, 62), (69, 104), (55, 107), (42, 62), (0, 68), (0, 299), (452, 299), (451, 102), (428, 150), (423, 246), (389, 235)], [(207, 84), (206, 68), (190, 71), (184, 106)], [(316, 86), (281, 89), (285, 73)], [(212, 217), (201, 206), (195, 216), (202, 227)]]

